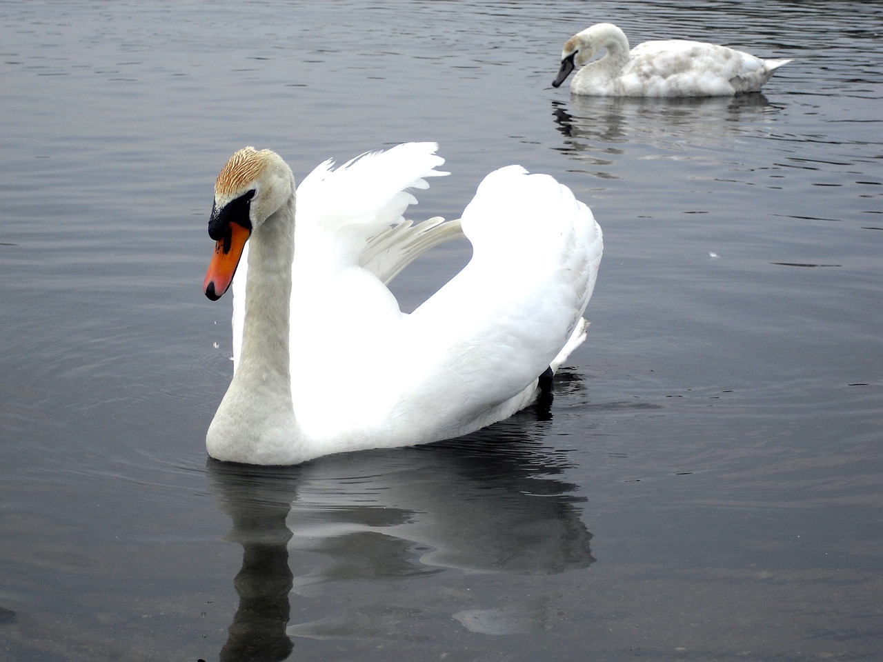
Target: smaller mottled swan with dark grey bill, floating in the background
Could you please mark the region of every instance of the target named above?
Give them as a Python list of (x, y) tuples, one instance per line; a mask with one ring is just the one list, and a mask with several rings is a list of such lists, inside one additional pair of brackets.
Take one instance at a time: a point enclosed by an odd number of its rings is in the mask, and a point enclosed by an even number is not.
[[(600, 49), (607, 54), (589, 62)], [(599, 23), (574, 34), (561, 55), (552, 82), (559, 87), (570, 71), (574, 94), (590, 96), (732, 96), (759, 92), (789, 59), (759, 57), (703, 41), (645, 41), (629, 50), (623, 31)]]

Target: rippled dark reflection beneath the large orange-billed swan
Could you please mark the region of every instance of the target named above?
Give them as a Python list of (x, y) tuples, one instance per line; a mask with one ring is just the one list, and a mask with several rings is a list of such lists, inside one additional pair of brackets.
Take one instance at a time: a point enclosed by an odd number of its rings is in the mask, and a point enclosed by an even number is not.
[[(239, 607), (221, 659), (284, 659), (289, 635), (386, 636), (413, 612), (376, 603), (390, 581), (452, 568), (521, 576), (588, 566), (592, 534), (579, 518), (575, 485), (552, 478), (570, 465), (540, 443), (544, 418), (547, 410), (534, 409), (459, 440), (298, 467), (210, 460), (208, 474), (233, 523), (229, 539), (243, 546), (234, 581)], [(292, 573), (290, 551), (318, 563)], [(336, 601), (335, 615), (288, 626), (292, 588), (326, 595), (333, 583), (348, 594), (368, 587), (372, 598), (359, 605), (350, 594)], [(536, 631), (547, 599), (499, 609), (457, 604), (448, 616), (486, 634)]]

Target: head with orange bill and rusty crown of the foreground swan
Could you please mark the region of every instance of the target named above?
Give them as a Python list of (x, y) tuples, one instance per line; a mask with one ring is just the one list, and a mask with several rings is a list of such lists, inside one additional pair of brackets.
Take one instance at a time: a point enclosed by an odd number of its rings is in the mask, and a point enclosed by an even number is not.
[(291, 169), (275, 152), (245, 147), (230, 156), (215, 180), (215, 204), (208, 219), (208, 236), (215, 239), (203, 282), (208, 298), (217, 301), (227, 291), (248, 237), (293, 193)]

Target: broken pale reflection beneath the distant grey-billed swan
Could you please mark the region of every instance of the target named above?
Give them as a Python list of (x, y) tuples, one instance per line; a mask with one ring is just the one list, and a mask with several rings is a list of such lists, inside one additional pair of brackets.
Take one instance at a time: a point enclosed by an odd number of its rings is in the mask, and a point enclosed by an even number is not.
[[(748, 117), (763, 117), (779, 108), (763, 94), (735, 97), (646, 99), (572, 95), (569, 102), (552, 102), (555, 125), (565, 137), (562, 152), (578, 154), (581, 161), (608, 166), (623, 154), (627, 143), (667, 152), (719, 150), (721, 138), (745, 132)], [(709, 151), (710, 158), (720, 152)], [(615, 177), (602, 170), (598, 177)]]

